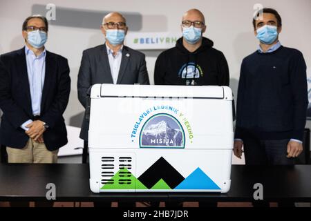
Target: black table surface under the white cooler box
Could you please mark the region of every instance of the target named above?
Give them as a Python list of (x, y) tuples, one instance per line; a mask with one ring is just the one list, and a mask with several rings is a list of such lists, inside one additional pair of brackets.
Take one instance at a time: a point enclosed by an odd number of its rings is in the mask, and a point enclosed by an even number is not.
[(88, 164), (0, 164), (0, 201), (46, 200), (46, 184), (56, 186), (56, 201), (252, 201), (254, 184), (263, 198), (311, 202), (311, 165), (232, 166), (228, 193), (92, 193)]

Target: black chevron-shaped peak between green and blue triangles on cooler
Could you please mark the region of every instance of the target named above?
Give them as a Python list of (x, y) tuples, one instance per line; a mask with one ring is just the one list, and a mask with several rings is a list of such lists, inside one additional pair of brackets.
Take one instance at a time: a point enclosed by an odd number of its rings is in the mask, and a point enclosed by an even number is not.
[(180, 182), (185, 180), (185, 177), (178, 173), (163, 157), (160, 157), (147, 171), (138, 177), (138, 180), (148, 189), (151, 189), (160, 179), (164, 180), (171, 189), (174, 189)]

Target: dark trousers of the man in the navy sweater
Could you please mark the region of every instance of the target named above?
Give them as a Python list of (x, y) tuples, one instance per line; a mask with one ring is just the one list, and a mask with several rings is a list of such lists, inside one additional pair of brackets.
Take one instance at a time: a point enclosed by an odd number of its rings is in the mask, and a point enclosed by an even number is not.
[[(285, 140), (258, 140), (255, 137), (243, 139), (246, 165), (294, 165), (294, 158), (286, 155), (288, 142)], [(268, 207), (265, 200), (254, 201), (254, 207)], [(279, 202), (279, 207), (294, 207), (294, 202)]]

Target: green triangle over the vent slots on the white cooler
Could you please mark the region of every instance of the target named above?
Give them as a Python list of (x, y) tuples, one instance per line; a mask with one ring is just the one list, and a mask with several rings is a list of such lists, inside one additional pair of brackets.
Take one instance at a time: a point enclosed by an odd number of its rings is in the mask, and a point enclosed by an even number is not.
[[(126, 173), (126, 176), (122, 177), (124, 173)], [(126, 181), (129, 184), (124, 184), (124, 181), (122, 180), (129, 180)], [(120, 169), (117, 171), (117, 173), (111, 177), (111, 182), (113, 182), (113, 184), (104, 184), (101, 189), (148, 189), (127, 169)], [(120, 182), (123, 182), (123, 184), (120, 184)]]

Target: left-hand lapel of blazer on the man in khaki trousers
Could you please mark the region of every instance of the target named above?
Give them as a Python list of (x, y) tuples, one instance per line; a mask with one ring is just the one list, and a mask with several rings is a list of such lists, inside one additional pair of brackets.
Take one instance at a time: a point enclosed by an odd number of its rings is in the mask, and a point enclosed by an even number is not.
[(21, 79), (21, 84), (23, 85), (23, 93), (26, 95), (26, 101), (28, 106), (28, 113), (32, 115), (32, 106), (31, 106), (31, 96), (30, 96), (30, 86), (28, 79), (28, 70), (27, 70), (27, 61), (25, 54), (25, 47), (21, 48), (18, 52), (18, 61), (17, 61), (19, 79)]

